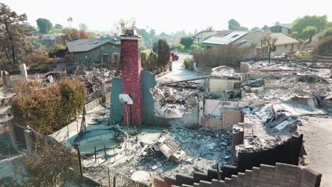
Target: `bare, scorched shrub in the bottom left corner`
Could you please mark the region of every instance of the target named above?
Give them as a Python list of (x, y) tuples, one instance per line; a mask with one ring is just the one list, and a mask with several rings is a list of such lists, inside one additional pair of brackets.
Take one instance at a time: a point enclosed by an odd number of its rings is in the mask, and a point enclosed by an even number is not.
[[(33, 155), (13, 162), (16, 186), (63, 186), (72, 181), (72, 158), (67, 148), (51, 142), (36, 142)], [(76, 159), (76, 157), (75, 157)], [(78, 161), (77, 161), (78, 163)]]

